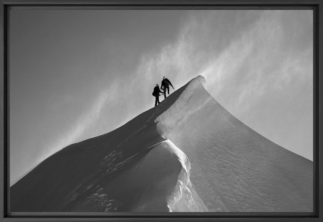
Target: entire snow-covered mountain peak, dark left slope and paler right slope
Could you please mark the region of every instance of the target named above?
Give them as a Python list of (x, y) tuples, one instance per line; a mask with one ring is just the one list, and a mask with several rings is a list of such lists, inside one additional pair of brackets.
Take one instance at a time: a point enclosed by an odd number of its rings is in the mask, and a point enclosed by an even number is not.
[(197, 76), (158, 106), (48, 157), (12, 212), (312, 212), (313, 162), (232, 116)]

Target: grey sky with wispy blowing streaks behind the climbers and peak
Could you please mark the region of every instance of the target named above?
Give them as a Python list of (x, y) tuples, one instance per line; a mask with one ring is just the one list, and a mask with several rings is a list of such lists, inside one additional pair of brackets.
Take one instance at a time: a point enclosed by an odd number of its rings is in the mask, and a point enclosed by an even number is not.
[(313, 160), (310, 10), (13, 10), (10, 181), (154, 106), (156, 83), (204, 75), (256, 132)]

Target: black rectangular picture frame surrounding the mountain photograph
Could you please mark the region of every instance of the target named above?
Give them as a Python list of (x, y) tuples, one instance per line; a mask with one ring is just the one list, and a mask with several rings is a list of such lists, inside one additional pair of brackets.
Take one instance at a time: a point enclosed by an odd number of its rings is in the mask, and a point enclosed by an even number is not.
[[(10, 212), (9, 15), (19, 9), (311, 9), (313, 10), (313, 207), (310, 213)], [(323, 221), (323, 0), (0, 0), (0, 221)]]

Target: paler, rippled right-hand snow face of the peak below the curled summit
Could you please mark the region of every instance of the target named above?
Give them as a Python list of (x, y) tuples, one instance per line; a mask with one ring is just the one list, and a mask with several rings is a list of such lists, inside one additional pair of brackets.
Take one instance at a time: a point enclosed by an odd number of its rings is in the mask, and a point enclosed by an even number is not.
[(190, 179), (209, 211), (313, 211), (313, 162), (228, 113), (205, 90), (203, 76), (156, 122), (188, 156)]

